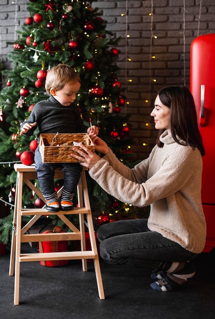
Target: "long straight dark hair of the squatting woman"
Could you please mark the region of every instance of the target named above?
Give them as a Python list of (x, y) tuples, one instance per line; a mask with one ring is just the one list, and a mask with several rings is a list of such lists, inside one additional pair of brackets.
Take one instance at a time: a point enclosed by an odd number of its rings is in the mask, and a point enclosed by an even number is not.
[[(205, 155), (202, 137), (198, 128), (197, 112), (193, 95), (184, 86), (171, 86), (158, 92), (160, 101), (171, 109), (171, 132), (174, 140), (181, 145), (198, 148)], [(163, 147), (159, 140), (165, 129), (159, 130), (157, 144)], [(182, 140), (182, 141), (180, 141)]]

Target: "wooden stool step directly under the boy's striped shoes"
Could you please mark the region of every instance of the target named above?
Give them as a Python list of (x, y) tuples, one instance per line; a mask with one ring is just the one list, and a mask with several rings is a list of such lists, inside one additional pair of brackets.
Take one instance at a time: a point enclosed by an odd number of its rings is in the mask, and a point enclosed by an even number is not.
[(74, 207), (73, 210), (60, 210), (58, 212), (48, 211), (45, 208), (29, 208), (22, 209), (21, 216), (32, 215), (75, 215), (75, 214), (89, 214), (90, 210), (85, 207)]

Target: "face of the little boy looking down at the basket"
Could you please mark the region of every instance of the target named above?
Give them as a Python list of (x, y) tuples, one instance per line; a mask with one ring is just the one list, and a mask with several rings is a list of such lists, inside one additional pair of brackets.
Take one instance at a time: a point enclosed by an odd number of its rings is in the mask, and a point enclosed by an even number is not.
[(64, 107), (68, 107), (75, 101), (76, 94), (78, 93), (80, 87), (81, 84), (79, 82), (69, 82), (63, 87), (62, 90), (56, 91), (55, 88), (52, 88), (50, 92), (59, 103), (64, 105)]

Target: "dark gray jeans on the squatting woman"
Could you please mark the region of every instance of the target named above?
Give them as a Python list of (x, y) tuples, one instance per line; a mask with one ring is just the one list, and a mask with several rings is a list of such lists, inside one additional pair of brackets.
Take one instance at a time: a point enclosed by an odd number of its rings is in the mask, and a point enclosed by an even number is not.
[(147, 219), (122, 220), (97, 230), (100, 255), (108, 263), (156, 271), (162, 261), (188, 261), (197, 256), (147, 227)]

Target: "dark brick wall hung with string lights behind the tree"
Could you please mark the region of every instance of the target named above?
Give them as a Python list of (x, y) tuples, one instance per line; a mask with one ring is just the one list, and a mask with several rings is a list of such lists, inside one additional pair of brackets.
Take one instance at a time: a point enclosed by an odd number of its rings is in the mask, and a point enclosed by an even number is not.
[[(3, 68), (12, 68), (6, 57), (11, 47), (6, 45), (6, 41), (14, 41), (15, 29), (20, 28), (29, 15), (26, 3), (22, 0), (14, 0), (13, 3), (1, 0)], [(118, 80), (129, 104), (122, 107), (121, 112), (131, 114), (130, 135), (136, 143), (132, 150), (137, 158), (145, 158), (157, 135), (150, 117), (156, 92), (169, 85), (189, 87), (190, 44), (198, 35), (215, 32), (215, 2), (98, 0), (92, 6), (101, 9), (103, 19), (108, 22), (107, 30), (116, 37), (122, 37), (117, 46), (121, 50), (117, 64), (122, 70)], [(153, 15), (150, 15), (152, 8)]]

